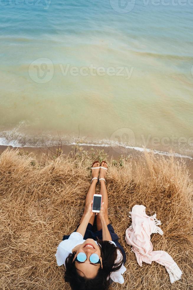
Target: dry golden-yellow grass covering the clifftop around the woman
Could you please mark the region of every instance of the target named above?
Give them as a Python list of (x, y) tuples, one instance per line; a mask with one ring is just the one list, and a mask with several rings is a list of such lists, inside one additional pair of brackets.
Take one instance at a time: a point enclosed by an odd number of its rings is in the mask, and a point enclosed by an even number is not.
[[(80, 220), (91, 155), (61, 155), (38, 165), (33, 156), (17, 151), (1, 154), (0, 289), (69, 289), (54, 254), (63, 234), (71, 233)], [(127, 254), (125, 283), (113, 284), (113, 289), (191, 289), (193, 185), (185, 165), (152, 154), (121, 164), (110, 164), (107, 175), (109, 218)], [(155, 250), (171, 254), (183, 271), (173, 285), (163, 266), (153, 262), (140, 268), (125, 243), (135, 204), (145, 205), (147, 214), (156, 212), (162, 221), (164, 236), (153, 234), (151, 241)]]

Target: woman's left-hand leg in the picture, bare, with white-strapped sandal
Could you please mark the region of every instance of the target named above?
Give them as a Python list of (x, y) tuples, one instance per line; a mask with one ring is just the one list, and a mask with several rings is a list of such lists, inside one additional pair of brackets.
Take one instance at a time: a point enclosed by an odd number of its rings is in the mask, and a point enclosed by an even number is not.
[[(97, 162), (95, 163), (92, 167), (99, 167), (100, 164)], [(100, 169), (92, 169), (92, 178), (93, 177), (97, 177), (99, 176), (99, 170)], [(98, 182), (97, 179), (94, 179), (89, 187), (89, 191), (86, 195), (86, 199), (85, 199), (85, 208), (84, 208), (84, 213), (83, 213), (83, 216), (86, 212), (86, 208), (89, 206), (91, 200), (93, 199), (93, 195), (96, 193), (96, 183)], [(82, 218), (83, 218), (82, 216)], [(91, 223), (93, 225), (94, 223), (94, 217), (95, 217), (95, 212), (93, 212), (93, 215), (91, 216), (90, 220), (89, 220), (89, 223)], [(82, 218), (80, 220), (80, 223), (82, 221)]]

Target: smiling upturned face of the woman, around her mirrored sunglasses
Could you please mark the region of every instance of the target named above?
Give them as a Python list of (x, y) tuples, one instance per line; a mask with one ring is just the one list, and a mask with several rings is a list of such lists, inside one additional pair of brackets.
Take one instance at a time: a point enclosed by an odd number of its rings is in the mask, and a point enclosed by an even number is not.
[[(75, 261), (76, 269), (80, 270), (79, 274), (81, 276), (86, 276), (87, 278), (94, 278), (99, 270), (100, 267), (102, 267), (102, 258), (101, 258), (101, 251), (100, 247), (96, 245), (95, 241), (93, 239), (87, 239), (83, 244), (80, 244), (76, 246), (72, 252), (75, 252), (74, 260), (76, 259), (78, 253), (84, 252), (86, 254), (86, 260), (85, 262), (77, 262)], [(93, 264), (90, 262), (89, 257), (91, 254), (97, 254), (99, 256), (99, 259), (101, 261), (100, 264)], [(89, 262), (89, 263), (87, 263)], [(83, 273), (84, 274), (83, 274)]]

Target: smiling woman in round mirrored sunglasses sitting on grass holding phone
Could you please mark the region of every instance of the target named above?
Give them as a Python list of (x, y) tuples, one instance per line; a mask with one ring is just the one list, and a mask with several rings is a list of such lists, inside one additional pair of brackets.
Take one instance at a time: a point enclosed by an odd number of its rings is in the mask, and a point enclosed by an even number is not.
[[(92, 164), (92, 180), (86, 195), (85, 209), (76, 231), (64, 236), (56, 252), (58, 266), (65, 265), (65, 281), (73, 290), (106, 290), (112, 281), (123, 283), (122, 274), (126, 255), (118, 242), (108, 218), (108, 195), (105, 175), (107, 163)], [(99, 175), (100, 171), (100, 175)], [(96, 184), (100, 184), (102, 207), (98, 214), (92, 212), (92, 199)], [(93, 224), (96, 217), (96, 228)]]

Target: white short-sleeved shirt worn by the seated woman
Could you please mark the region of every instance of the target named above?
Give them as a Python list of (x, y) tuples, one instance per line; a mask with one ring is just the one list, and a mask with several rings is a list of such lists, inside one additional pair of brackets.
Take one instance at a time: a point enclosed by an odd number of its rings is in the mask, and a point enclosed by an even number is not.
[[(57, 252), (55, 254), (57, 265), (61, 266), (64, 264), (65, 266), (65, 261), (66, 258), (70, 253), (72, 253), (73, 248), (75, 248), (77, 245), (83, 244), (85, 240), (83, 239), (83, 236), (80, 233), (73, 232), (69, 236), (68, 240), (61, 241), (61, 243), (58, 245)], [(110, 241), (112, 244), (116, 246), (116, 244), (113, 241)], [(96, 245), (97, 242), (95, 241)], [(117, 259), (115, 262), (119, 262), (122, 258), (122, 254), (119, 250), (117, 250)], [(114, 282), (118, 283), (124, 283), (124, 278), (122, 274), (126, 271), (126, 268), (124, 265), (121, 266), (121, 268), (116, 271), (116, 272), (111, 272), (110, 278)]]

